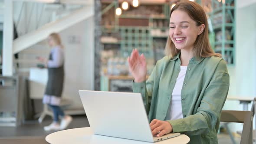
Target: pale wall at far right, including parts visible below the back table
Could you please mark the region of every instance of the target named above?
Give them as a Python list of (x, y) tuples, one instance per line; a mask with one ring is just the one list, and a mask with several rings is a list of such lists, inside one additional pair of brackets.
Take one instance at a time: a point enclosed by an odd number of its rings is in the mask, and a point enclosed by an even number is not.
[[(252, 0), (253, 1), (253, 0)], [(255, 1), (255, 0), (254, 0)], [(256, 2), (236, 9), (236, 65), (229, 66), (229, 96), (256, 97)], [(251, 105), (249, 105), (250, 109)], [(243, 110), (239, 101), (226, 101), (224, 109)], [(232, 131), (241, 131), (243, 124), (234, 124)], [(254, 126), (255, 127), (255, 126)]]

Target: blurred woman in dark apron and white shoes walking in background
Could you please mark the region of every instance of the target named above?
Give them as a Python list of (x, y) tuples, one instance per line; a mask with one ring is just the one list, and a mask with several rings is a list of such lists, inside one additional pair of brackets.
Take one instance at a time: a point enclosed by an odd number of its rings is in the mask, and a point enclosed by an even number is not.
[[(52, 48), (49, 60), (45, 61), (45, 67), (48, 68), (48, 82), (46, 85), (43, 103), (48, 104), (53, 110), (53, 122), (44, 127), (45, 131), (63, 130), (72, 121), (72, 117), (64, 115), (62, 108), (59, 107), (64, 82), (64, 50), (58, 33), (52, 33), (48, 37), (48, 44)], [(59, 124), (59, 117), (61, 118)]]

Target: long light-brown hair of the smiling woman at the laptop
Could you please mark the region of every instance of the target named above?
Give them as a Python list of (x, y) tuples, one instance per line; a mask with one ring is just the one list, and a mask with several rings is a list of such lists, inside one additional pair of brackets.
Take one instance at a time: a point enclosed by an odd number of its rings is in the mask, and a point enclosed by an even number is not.
[[(189, 0), (183, 0), (182, 2), (176, 4), (171, 9), (170, 17), (171, 17), (171, 14), (174, 12), (174, 10), (182, 10), (186, 12), (188, 16), (190, 16), (190, 18), (196, 22), (197, 26), (200, 26), (201, 24), (205, 25), (203, 32), (197, 36), (197, 39), (194, 43), (194, 48), (193, 48), (194, 56), (196, 56), (196, 58), (210, 57), (210, 56), (221, 57), (221, 55), (219, 53), (215, 53), (210, 46), (209, 37), (208, 37), (208, 22), (207, 22), (207, 17), (203, 8), (198, 3), (195, 3)], [(164, 49), (165, 55), (171, 56), (171, 58), (173, 58), (174, 56), (177, 56), (180, 51), (181, 50), (175, 47), (169, 35), (165, 49)]]

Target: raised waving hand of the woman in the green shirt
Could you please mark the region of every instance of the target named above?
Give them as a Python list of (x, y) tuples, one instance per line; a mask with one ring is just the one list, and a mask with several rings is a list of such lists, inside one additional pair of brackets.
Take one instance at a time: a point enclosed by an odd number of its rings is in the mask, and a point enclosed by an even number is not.
[(144, 54), (139, 56), (137, 49), (132, 49), (131, 56), (127, 59), (129, 70), (134, 77), (135, 82), (143, 82), (146, 80), (147, 64)]

